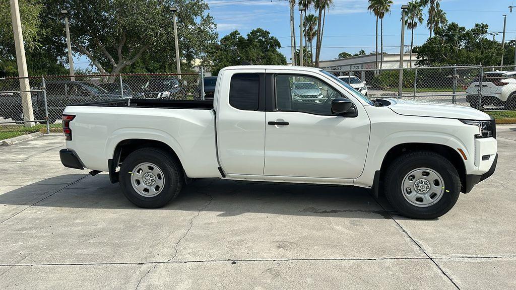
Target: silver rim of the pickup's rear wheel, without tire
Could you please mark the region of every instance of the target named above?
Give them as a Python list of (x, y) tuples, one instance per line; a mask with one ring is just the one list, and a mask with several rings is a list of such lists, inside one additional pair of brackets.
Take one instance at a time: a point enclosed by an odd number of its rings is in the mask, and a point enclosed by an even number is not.
[(131, 171), (131, 184), (140, 196), (155, 197), (163, 190), (165, 176), (156, 165), (140, 163)]

